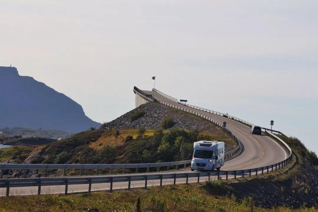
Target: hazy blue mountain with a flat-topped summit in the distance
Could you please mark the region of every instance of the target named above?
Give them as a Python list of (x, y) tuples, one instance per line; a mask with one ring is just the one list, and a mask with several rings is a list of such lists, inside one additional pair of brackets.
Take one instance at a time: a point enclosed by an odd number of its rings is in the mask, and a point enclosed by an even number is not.
[(0, 128), (41, 127), (75, 133), (100, 125), (63, 93), (20, 76), (15, 67), (0, 66)]

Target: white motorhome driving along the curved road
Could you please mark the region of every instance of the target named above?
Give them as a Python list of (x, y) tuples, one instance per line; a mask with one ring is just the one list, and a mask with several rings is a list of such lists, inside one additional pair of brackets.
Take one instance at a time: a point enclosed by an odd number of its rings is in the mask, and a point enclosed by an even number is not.
[(225, 146), (222, 141), (201, 140), (194, 142), (194, 153), (191, 161), (191, 171), (196, 170), (220, 170), (224, 166)]

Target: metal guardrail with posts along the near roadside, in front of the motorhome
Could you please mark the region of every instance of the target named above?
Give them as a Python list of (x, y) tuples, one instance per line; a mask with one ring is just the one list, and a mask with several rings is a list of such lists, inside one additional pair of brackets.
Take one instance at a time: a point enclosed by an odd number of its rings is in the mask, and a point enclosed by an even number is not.
[(211, 176), (225, 175), (226, 180), (228, 180), (228, 175), (234, 175), (236, 179), (237, 176), (249, 177), (253, 172), (257, 176), (259, 172), (264, 174), (269, 173), (269, 170), (273, 172), (273, 169), (278, 169), (285, 167), (291, 161), (291, 155), (279, 163), (275, 163), (269, 166), (264, 166), (260, 168), (243, 169), (243, 170), (233, 170), (233, 171), (217, 171), (217, 172), (193, 172), (193, 173), (180, 173), (180, 174), (149, 174), (149, 175), (125, 175), (125, 176), (108, 176), (108, 177), (69, 177), (69, 178), (22, 178), (22, 179), (2, 179), (0, 180), (0, 188), (6, 188), (6, 196), (10, 194), (10, 187), (38, 187), (38, 195), (41, 194), (41, 186), (54, 186), (54, 185), (65, 185), (65, 195), (68, 192), (68, 185), (79, 185), (88, 184), (88, 192), (91, 192), (92, 184), (96, 183), (110, 183), (110, 191), (113, 190), (114, 182), (128, 182), (128, 189), (130, 189), (131, 181), (145, 181), (145, 188), (147, 188), (147, 181), (149, 180), (160, 180), (160, 186), (162, 186), (163, 179), (174, 179), (174, 185), (176, 184), (176, 179), (186, 178), (186, 183), (188, 184), (188, 179), (197, 177), (199, 182), (200, 177), (207, 176), (210, 179)]

